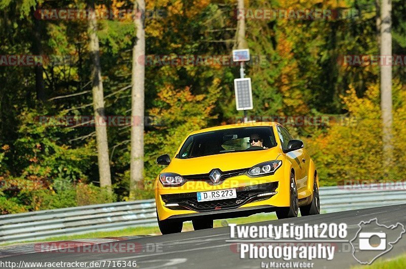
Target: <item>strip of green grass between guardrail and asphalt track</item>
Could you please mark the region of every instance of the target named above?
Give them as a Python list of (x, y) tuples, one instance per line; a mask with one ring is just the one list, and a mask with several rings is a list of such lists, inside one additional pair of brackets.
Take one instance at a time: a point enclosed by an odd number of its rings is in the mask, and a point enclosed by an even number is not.
[[(215, 220), (213, 226), (222, 227), (227, 226), (227, 223), (237, 223), (237, 224), (244, 224), (244, 223), (251, 223), (251, 222), (258, 222), (258, 221), (265, 221), (265, 220), (272, 220), (276, 219), (275, 213), (261, 213), (255, 214), (249, 217), (242, 217), (242, 218), (230, 218), (224, 220)], [(183, 223), (182, 232), (187, 232), (189, 230), (193, 230), (193, 226), (191, 221), (187, 221)], [(29, 243), (29, 242), (48, 242), (48, 241), (62, 241), (62, 240), (74, 240), (74, 239), (86, 239), (86, 238), (103, 238), (103, 237), (122, 237), (122, 236), (140, 236), (140, 235), (160, 235), (158, 226), (142, 226), (142, 227), (128, 227), (119, 230), (112, 230), (109, 232), (94, 232), (94, 233), (87, 233), (81, 235), (73, 235), (73, 236), (56, 236), (56, 237), (49, 237), (45, 239), (33, 240), (33, 241), (22, 241), (22, 242), (15, 242), (15, 243), (5, 243), (0, 244), (0, 247), (12, 245), (12, 244), (20, 244), (20, 243)]]

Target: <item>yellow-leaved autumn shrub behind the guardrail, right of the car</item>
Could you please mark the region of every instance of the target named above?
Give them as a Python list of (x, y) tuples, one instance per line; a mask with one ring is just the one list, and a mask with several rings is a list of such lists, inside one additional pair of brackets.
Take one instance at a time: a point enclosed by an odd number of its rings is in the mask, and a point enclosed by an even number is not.
[[(404, 86), (393, 85), (393, 136), (405, 137), (406, 94)], [(394, 139), (394, 162), (389, 173), (383, 167), (382, 120), (378, 85), (368, 88), (364, 97), (354, 89), (342, 96), (349, 116), (356, 118), (352, 126), (331, 126), (327, 132), (304, 139), (315, 160), (322, 185), (336, 185), (342, 180), (404, 180), (406, 177), (404, 139)]]

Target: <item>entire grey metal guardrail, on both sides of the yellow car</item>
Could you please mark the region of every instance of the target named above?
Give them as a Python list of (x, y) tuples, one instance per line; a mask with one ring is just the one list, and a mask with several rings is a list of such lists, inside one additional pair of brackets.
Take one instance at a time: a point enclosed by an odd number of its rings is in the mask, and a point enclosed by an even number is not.
[[(406, 191), (402, 189), (320, 187), (321, 210), (326, 213), (403, 204)], [(155, 225), (154, 199), (0, 215), (0, 244)]]

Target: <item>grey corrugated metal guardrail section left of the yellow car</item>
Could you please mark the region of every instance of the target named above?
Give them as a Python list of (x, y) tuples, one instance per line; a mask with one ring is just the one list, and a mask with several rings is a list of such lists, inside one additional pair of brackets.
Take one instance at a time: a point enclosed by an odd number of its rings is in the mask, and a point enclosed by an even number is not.
[(154, 225), (154, 199), (8, 214), (0, 215), (0, 244)]

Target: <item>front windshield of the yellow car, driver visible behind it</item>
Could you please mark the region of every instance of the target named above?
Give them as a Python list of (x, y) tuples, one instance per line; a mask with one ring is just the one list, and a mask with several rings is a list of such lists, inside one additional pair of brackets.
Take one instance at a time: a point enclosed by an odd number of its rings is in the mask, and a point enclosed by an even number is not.
[[(261, 146), (251, 146), (250, 136), (259, 137)], [(189, 136), (176, 158), (189, 159), (228, 152), (264, 150), (277, 145), (273, 129), (244, 127), (205, 132)]]

